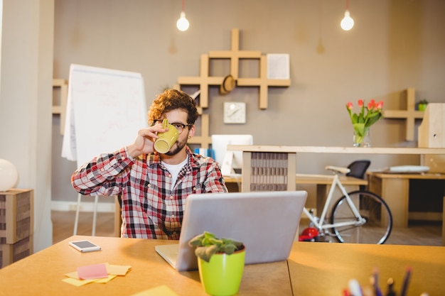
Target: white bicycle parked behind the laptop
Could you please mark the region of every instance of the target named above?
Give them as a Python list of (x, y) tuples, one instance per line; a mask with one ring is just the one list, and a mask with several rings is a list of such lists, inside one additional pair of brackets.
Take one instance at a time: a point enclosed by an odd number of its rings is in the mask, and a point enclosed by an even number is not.
[[(392, 214), (382, 197), (361, 189), (346, 192), (339, 175), (348, 174), (349, 168), (329, 165), (326, 170), (331, 170), (334, 176), (321, 216), (318, 218), (312, 210), (303, 209), (313, 228), (317, 229), (319, 240), (326, 241), (326, 236), (333, 236), (341, 243), (385, 243), (391, 234)], [(331, 224), (328, 224), (326, 214), (336, 187), (343, 197), (333, 205)]]

